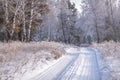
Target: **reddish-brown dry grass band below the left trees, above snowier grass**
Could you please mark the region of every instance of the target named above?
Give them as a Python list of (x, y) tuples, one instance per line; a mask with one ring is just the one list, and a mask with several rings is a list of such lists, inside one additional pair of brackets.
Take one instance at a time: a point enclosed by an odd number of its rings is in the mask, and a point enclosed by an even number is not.
[[(45, 50), (55, 55), (55, 58), (59, 58), (64, 54), (63, 48), (65, 45), (55, 42), (11, 42), (11, 43), (0, 43), (0, 62), (11, 61), (16, 59), (16, 56), (20, 52), (36, 54), (41, 50)], [(6, 60), (3, 60), (6, 57)]]

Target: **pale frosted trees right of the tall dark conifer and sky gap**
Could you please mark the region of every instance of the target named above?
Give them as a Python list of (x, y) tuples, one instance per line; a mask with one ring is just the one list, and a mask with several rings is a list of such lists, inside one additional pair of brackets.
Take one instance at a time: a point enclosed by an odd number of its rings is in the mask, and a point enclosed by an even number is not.
[(84, 37), (120, 41), (120, 0), (82, 0), (81, 8), (78, 24), (84, 28)]

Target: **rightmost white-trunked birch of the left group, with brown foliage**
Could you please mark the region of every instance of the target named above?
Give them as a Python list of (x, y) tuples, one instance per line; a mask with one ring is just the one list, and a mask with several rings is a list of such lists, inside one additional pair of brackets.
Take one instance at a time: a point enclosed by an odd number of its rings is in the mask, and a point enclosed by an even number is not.
[(28, 41), (31, 37), (31, 28), (33, 26), (40, 25), (42, 23), (42, 19), (39, 19), (41, 15), (47, 14), (49, 11), (48, 5), (46, 4), (46, 0), (32, 0), (30, 1), (30, 20), (28, 25)]

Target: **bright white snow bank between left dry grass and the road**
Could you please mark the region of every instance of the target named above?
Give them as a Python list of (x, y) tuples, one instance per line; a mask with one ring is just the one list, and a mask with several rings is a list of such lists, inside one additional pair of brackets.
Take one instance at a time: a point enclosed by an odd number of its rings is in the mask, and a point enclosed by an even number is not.
[[(53, 60), (53, 61), (44, 61), (42, 63), (38, 62), (37, 66), (33, 70), (28, 69), (28, 71), (24, 73), (23, 76), (21, 76), (21, 80), (30, 80), (31, 78), (43, 73), (45, 70), (47, 70), (52, 65), (56, 64), (60, 59)], [(20, 80), (20, 78), (16, 77), (15, 80)]]

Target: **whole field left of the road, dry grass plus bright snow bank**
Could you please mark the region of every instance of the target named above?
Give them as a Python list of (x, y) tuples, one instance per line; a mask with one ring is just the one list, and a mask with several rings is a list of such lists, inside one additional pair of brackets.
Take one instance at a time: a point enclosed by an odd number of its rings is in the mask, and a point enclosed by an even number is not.
[(0, 43), (0, 80), (28, 80), (56, 63), (68, 46), (55, 42)]

